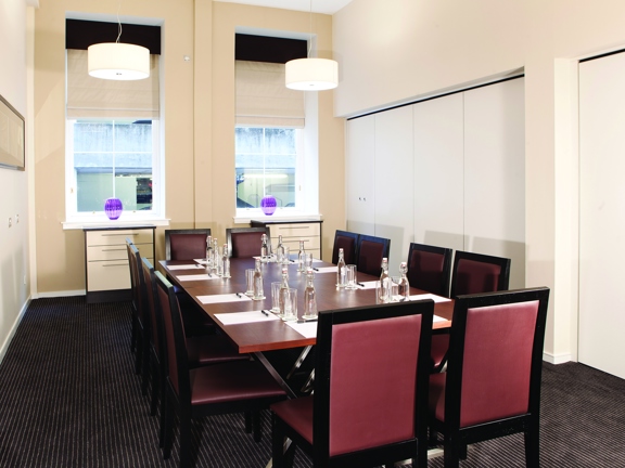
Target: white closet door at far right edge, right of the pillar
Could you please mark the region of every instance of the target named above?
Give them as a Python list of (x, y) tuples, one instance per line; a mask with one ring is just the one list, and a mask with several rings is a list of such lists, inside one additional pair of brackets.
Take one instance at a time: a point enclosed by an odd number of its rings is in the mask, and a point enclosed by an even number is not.
[(625, 54), (579, 64), (579, 362), (625, 378)]

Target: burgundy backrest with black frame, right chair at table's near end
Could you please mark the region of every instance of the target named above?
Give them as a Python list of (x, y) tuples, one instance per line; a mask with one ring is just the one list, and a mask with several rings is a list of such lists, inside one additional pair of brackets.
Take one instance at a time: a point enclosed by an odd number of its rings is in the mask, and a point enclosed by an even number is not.
[(548, 300), (546, 287), (456, 299), (446, 425), (464, 428), (538, 414)]

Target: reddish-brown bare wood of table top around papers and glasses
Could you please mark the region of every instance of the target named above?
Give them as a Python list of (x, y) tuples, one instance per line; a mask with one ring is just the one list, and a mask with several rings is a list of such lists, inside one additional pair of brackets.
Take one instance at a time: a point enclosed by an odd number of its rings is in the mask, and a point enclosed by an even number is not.
[[(306, 338), (288, 326), (281, 320), (267, 320), (266, 322), (253, 322), (237, 325), (224, 325), (215, 317), (219, 313), (233, 313), (245, 311), (259, 311), (271, 309), (271, 283), (281, 282), (281, 265), (278, 263), (263, 263), (263, 280), (265, 297), (264, 300), (242, 300), (235, 302), (220, 302), (203, 304), (199, 296), (245, 292), (245, 270), (254, 268), (254, 259), (231, 259), (230, 278), (184, 281), (180, 280), (187, 275), (197, 275), (206, 273), (204, 268), (197, 269), (169, 269), (174, 265), (191, 264), (193, 261), (167, 261), (162, 260), (161, 264), (169, 280), (187, 291), (189, 296), (201, 307), (215, 323), (226, 333), (241, 353), (258, 351), (270, 351), (278, 349), (299, 348), (315, 344), (315, 338)], [(314, 268), (332, 266), (332, 263), (316, 261)], [(289, 286), (297, 289), (297, 315), (304, 313), (304, 288), (306, 287), (306, 275), (297, 272), (297, 264), (289, 264)], [(369, 282), (379, 280), (375, 276), (358, 273), (358, 282)], [(315, 290), (317, 292), (317, 308), (319, 312), (324, 310), (346, 309), (353, 307), (371, 306), (375, 303), (375, 289), (347, 290), (335, 286), (336, 274), (317, 273), (315, 274)], [(410, 295), (426, 294), (421, 289), (410, 288)], [(436, 302), (434, 314), (445, 318), (435, 322), (433, 328), (446, 328), (451, 325), (454, 313), (454, 301)]]

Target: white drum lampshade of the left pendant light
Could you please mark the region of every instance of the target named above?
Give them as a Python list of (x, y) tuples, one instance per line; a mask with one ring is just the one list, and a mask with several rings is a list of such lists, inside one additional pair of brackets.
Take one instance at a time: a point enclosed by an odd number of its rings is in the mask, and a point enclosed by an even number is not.
[(87, 66), (94, 78), (138, 80), (150, 76), (150, 50), (141, 46), (103, 42), (89, 46)]

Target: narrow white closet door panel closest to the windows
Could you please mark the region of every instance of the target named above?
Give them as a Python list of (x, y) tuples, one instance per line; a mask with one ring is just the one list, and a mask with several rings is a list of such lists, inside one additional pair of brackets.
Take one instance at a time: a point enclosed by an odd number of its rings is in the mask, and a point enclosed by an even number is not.
[(375, 234), (375, 116), (347, 121), (347, 230)]

